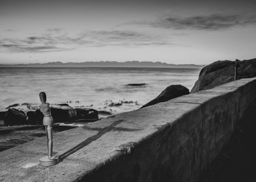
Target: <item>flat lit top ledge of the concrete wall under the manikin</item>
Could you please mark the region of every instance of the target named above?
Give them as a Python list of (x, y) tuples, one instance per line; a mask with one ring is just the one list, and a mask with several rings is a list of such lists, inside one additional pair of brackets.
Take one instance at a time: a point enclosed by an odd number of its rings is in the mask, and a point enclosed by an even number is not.
[(39, 166), (40, 157), (47, 151), (45, 137), (7, 149), (0, 153), (0, 181), (76, 181), (129, 153), (159, 128), (172, 125), (206, 101), (252, 83), (256, 84), (256, 78), (241, 79), (57, 133), (54, 152), (62, 160), (56, 166)]

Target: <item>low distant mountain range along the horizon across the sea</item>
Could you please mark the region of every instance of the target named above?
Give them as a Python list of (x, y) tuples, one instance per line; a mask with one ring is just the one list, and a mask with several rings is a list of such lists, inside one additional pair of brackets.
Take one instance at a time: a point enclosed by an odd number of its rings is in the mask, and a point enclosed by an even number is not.
[(47, 62), (31, 64), (0, 64), (0, 66), (15, 67), (125, 67), (125, 68), (200, 68), (196, 64), (167, 64), (165, 62), (150, 61), (100, 61), (100, 62)]

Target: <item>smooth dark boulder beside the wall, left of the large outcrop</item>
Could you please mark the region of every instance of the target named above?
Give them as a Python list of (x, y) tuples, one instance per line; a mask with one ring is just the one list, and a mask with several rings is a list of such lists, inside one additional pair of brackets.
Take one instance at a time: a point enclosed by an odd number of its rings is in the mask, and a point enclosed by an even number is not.
[(157, 98), (153, 99), (149, 103), (146, 103), (143, 105), (143, 107), (148, 107), (150, 105), (154, 105), (156, 103), (165, 102), (170, 99), (178, 98), (180, 96), (184, 96), (189, 94), (189, 89), (182, 85), (170, 85)]

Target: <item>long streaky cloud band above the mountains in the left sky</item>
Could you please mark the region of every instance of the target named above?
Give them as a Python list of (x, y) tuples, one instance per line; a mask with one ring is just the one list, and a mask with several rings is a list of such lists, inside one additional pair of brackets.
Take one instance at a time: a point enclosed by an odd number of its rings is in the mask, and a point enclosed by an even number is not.
[[(56, 33), (57, 31), (57, 33)], [(61, 29), (48, 29), (40, 36), (0, 39), (0, 48), (15, 52), (48, 52), (79, 47), (174, 45), (166, 37), (136, 31), (84, 31), (68, 36)]]

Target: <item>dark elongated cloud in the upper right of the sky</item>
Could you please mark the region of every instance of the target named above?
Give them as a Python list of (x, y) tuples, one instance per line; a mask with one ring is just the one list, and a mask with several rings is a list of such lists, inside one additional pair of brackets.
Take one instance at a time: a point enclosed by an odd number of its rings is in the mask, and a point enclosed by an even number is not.
[[(256, 16), (212, 14), (208, 16), (165, 16), (148, 24), (167, 29), (220, 30), (256, 23)], [(145, 24), (142, 23), (142, 24)]]

